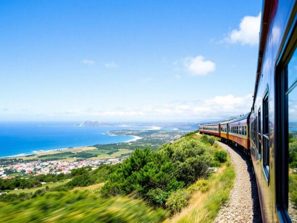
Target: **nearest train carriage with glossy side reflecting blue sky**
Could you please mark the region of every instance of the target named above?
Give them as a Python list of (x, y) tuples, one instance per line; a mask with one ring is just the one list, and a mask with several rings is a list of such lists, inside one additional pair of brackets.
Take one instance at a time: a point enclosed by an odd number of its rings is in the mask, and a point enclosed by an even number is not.
[(296, 54), (296, 10), (296, 1), (263, 1), (250, 116), (251, 159), (263, 222), (296, 222), (296, 214), (288, 211), (288, 97), (296, 86), (296, 81), (288, 83), (296, 77), (288, 64)]

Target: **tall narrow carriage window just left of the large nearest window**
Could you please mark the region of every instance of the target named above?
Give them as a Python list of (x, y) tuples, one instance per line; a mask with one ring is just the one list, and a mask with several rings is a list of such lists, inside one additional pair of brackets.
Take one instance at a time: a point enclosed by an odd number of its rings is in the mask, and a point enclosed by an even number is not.
[(269, 179), (269, 122), (268, 122), (268, 92), (263, 98), (263, 166), (266, 180)]

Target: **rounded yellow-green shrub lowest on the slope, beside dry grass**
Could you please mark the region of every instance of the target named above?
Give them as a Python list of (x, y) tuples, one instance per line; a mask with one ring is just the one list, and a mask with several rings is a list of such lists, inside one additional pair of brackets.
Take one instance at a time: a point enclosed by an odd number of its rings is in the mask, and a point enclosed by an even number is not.
[(191, 193), (185, 189), (179, 189), (170, 194), (166, 206), (171, 214), (176, 214), (188, 205)]

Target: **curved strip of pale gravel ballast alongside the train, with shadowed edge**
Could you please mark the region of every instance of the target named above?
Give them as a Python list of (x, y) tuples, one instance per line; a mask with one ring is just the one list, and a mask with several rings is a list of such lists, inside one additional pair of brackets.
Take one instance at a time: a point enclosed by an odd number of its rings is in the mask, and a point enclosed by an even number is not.
[(230, 200), (222, 206), (214, 223), (262, 222), (257, 183), (250, 158), (236, 148), (217, 143), (229, 153), (236, 177), (230, 191)]

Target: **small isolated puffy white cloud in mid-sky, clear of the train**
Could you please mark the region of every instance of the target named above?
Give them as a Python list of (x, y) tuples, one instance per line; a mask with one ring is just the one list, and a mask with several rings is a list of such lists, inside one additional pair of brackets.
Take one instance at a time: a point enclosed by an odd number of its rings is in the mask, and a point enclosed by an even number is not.
[(186, 57), (184, 66), (193, 76), (206, 75), (216, 69), (216, 64), (210, 60), (204, 60), (203, 56)]

